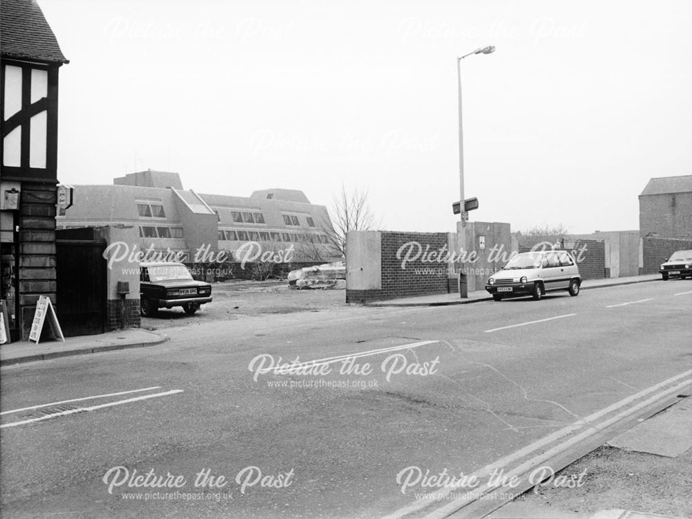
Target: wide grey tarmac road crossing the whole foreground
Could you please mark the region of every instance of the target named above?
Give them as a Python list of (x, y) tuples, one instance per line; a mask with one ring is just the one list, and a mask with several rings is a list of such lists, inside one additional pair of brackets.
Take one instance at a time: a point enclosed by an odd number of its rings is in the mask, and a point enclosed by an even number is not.
[(690, 370), (691, 309), (686, 280), (343, 307), (3, 368), (2, 515), (385, 516), (430, 490), (417, 471), (468, 475)]

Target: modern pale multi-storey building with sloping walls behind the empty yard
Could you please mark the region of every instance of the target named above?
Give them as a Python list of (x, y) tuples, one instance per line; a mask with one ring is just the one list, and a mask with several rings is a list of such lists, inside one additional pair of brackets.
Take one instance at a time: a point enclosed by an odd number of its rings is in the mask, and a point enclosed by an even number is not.
[(331, 246), (327, 208), (310, 203), (300, 190), (199, 194), (184, 190), (179, 174), (152, 170), (114, 179), (113, 185), (73, 188), (73, 206), (57, 216), (58, 228), (134, 226), (143, 251), (181, 251), (185, 262), (195, 262), (198, 251), (237, 254), (254, 243), (264, 251), (291, 248), (296, 262), (340, 259)]

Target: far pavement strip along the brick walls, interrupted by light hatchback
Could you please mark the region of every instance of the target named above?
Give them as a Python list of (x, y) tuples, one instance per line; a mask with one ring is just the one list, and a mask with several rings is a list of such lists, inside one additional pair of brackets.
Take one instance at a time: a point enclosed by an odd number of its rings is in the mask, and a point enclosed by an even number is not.
[[(632, 275), (628, 277), (608, 277), (601, 280), (583, 280), (582, 290), (601, 289), (606, 286), (619, 286), (625, 284), (644, 283), (648, 281), (660, 281), (660, 274)], [(468, 298), (459, 298), (459, 293), (441, 293), (432, 295), (419, 295), (412, 298), (388, 299), (367, 303), (367, 307), (446, 307), (450, 304), (469, 304), (480, 301), (491, 301), (492, 296), (483, 290), (468, 293)]]

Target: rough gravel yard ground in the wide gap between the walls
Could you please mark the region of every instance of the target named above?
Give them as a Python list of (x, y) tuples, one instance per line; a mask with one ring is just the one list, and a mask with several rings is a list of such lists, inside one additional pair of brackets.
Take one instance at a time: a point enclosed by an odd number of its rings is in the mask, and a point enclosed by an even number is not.
[(154, 318), (143, 317), (148, 330), (194, 325), (209, 320), (234, 320), (243, 316), (271, 313), (320, 311), (346, 306), (346, 282), (340, 280), (333, 289), (297, 290), (281, 281), (227, 281), (212, 284), (214, 300), (188, 316), (180, 307), (158, 311)]

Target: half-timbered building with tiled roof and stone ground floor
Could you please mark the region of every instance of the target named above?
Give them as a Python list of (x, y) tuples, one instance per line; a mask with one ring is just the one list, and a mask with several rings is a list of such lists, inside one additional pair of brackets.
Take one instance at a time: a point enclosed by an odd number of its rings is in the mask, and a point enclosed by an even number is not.
[(68, 63), (33, 0), (1, 0), (0, 297), (26, 340), (39, 296), (55, 304), (58, 71)]

